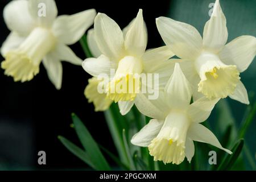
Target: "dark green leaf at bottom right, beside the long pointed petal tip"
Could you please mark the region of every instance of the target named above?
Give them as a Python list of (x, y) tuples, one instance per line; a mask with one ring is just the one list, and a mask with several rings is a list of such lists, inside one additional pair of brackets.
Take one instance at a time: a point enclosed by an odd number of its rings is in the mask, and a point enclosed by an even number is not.
[(233, 164), (236, 162), (238, 156), (241, 154), (243, 148), (243, 139), (237, 140), (236, 144), (234, 144), (234, 147), (232, 148), (232, 155), (226, 156), (224, 160), (222, 160), (222, 163), (218, 167), (218, 171), (222, 170), (229, 170), (233, 167)]

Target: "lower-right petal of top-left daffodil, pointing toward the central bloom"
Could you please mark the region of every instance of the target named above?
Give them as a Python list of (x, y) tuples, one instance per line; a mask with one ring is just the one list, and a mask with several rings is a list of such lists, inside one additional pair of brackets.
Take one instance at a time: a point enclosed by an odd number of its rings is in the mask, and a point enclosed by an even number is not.
[(53, 52), (61, 61), (67, 61), (75, 65), (82, 65), (82, 60), (75, 55), (71, 48), (64, 44), (58, 44)]

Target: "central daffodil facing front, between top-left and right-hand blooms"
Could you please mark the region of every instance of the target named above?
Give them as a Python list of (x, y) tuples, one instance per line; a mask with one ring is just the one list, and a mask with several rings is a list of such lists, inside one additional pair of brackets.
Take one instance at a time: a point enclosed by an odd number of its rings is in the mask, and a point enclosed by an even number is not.
[[(109, 76), (107, 97), (118, 102), (123, 115), (134, 105), (134, 98), (141, 86), (135, 84), (139, 80), (135, 75), (159, 73), (159, 87), (165, 85), (171, 76), (168, 59), (174, 53), (167, 46), (145, 52), (147, 29), (142, 10), (139, 10), (137, 17), (123, 31), (109, 16), (98, 13), (94, 20), (94, 31), (88, 35), (91, 35), (88, 37), (89, 48), (98, 58), (85, 59), (82, 67), (94, 77), (102, 73)], [(115, 71), (114, 76), (111, 76), (111, 70)], [(119, 90), (118, 85), (123, 82), (124, 85), (134, 86), (132, 92)]]

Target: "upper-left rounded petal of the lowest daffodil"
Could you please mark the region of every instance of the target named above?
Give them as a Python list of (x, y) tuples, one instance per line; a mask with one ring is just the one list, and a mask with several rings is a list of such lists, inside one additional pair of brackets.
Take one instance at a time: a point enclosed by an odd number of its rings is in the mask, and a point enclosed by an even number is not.
[(135, 98), (135, 105), (142, 114), (151, 118), (164, 120), (168, 114), (163, 92), (159, 92), (157, 100), (148, 100), (147, 94), (139, 93)]

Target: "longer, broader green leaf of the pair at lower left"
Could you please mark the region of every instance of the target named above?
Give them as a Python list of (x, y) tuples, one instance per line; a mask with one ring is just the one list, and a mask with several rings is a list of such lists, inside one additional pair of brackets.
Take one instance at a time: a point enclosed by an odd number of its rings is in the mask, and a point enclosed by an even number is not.
[(91, 162), (97, 170), (110, 170), (108, 162), (102, 155), (100, 148), (98, 147), (95, 140), (90, 135), (89, 131), (86, 129), (81, 120), (76, 114), (72, 113), (72, 119), (75, 126), (76, 134), (85, 148), (86, 153), (90, 157)]

